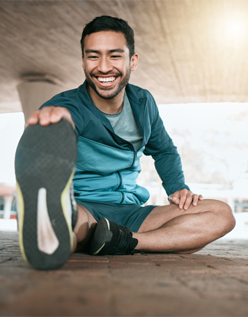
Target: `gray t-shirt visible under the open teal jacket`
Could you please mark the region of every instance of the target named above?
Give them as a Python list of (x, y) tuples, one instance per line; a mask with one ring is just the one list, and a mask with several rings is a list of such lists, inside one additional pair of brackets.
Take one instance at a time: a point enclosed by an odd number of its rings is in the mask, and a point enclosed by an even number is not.
[(122, 139), (129, 141), (134, 146), (135, 150), (139, 150), (142, 142), (142, 134), (134, 119), (130, 102), (127, 98), (127, 93), (124, 93), (123, 109), (118, 114), (105, 114), (109, 119), (114, 132)]

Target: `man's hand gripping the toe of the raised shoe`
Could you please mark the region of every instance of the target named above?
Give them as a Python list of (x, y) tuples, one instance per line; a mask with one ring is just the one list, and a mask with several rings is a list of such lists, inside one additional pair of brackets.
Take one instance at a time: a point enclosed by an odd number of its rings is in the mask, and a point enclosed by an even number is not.
[(26, 122), (25, 127), (28, 125), (36, 125), (38, 122), (43, 126), (49, 125), (50, 123), (58, 123), (62, 118), (68, 120), (72, 124), (72, 127), (75, 128), (70, 111), (64, 107), (54, 106), (44, 107), (33, 112), (33, 114), (29, 117), (29, 120)]

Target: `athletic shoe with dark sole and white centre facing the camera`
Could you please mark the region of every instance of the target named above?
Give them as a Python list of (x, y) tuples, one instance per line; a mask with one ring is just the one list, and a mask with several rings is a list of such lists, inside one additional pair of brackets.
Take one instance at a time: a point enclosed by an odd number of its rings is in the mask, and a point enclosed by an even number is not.
[(47, 126), (29, 125), (15, 154), (20, 248), (38, 270), (54, 270), (69, 258), (77, 204), (72, 178), (77, 137), (62, 119)]

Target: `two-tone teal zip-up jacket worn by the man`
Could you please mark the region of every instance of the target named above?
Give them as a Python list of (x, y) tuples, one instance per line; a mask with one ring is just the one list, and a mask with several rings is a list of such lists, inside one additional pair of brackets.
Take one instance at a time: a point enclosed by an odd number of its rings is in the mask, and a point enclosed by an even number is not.
[(152, 155), (168, 196), (177, 190), (189, 189), (185, 185), (180, 155), (164, 128), (153, 96), (131, 84), (127, 84), (126, 92), (143, 135), (137, 151), (114, 133), (109, 120), (93, 105), (86, 82), (77, 89), (55, 95), (42, 105), (66, 107), (75, 123), (78, 153), (73, 185), (78, 200), (146, 203), (148, 190), (137, 185), (142, 153)]

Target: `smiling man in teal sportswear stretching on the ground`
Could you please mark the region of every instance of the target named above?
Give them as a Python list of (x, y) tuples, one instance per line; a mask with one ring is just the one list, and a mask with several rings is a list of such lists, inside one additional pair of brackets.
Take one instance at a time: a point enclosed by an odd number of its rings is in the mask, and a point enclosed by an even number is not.
[[(24, 259), (49, 270), (87, 247), (93, 255), (192, 253), (231, 231), (228, 205), (185, 185), (152, 95), (128, 84), (138, 55), (127, 22), (96, 17), (81, 45), (86, 81), (34, 112), (17, 148)], [(141, 206), (149, 197), (136, 184), (142, 153), (153, 156), (169, 206)]]

